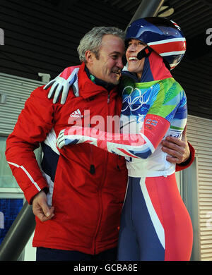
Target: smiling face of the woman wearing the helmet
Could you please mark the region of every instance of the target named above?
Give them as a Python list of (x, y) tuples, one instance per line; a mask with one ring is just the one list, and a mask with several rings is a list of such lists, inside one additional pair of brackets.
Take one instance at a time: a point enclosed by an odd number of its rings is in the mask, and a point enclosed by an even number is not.
[(145, 59), (137, 59), (137, 54), (147, 45), (142, 41), (136, 39), (130, 39), (128, 42), (128, 47), (126, 49), (126, 60), (128, 62), (128, 71), (136, 73), (138, 78), (141, 79), (143, 72), (143, 65)]

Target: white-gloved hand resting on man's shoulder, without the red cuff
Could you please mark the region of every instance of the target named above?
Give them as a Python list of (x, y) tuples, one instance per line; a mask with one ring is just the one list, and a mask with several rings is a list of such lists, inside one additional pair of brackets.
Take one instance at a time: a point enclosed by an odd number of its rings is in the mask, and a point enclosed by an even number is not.
[(61, 78), (59, 75), (57, 78), (54, 78), (51, 80), (47, 85), (45, 85), (44, 89), (47, 90), (48, 87), (51, 87), (48, 94), (48, 99), (53, 98), (53, 103), (57, 103), (59, 101), (59, 97), (61, 94), (61, 104), (64, 104), (66, 102), (66, 98), (69, 92), (70, 82), (69, 80), (66, 80), (64, 78)]

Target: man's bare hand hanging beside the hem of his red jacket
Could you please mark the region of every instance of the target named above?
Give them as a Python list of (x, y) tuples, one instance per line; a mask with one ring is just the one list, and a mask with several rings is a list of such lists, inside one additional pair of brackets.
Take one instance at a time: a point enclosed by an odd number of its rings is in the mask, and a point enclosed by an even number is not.
[(49, 208), (47, 195), (42, 190), (33, 198), (33, 213), (40, 221), (48, 221), (54, 216), (54, 207)]

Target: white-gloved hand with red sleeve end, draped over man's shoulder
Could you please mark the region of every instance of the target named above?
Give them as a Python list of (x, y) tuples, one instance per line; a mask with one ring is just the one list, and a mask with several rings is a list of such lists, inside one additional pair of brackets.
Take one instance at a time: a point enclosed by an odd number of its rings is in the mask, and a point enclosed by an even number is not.
[(57, 76), (57, 78), (54, 78), (47, 83), (47, 85), (45, 85), (45, 90), (52, 85), (49, 90), (48, 98), (50, 99), (54, 96), (53, 103), (57, 103), (59, 101), (61, 94), (61, 104), (64, 104), (71, 85), (73, 87), (74, 94), (78, 94), (78, 70), (79, 66), (65, 68), (64, 71)]

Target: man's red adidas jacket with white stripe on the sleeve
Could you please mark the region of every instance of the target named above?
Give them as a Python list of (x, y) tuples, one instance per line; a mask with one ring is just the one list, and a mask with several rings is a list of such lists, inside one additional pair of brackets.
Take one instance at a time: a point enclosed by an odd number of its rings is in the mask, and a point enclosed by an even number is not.
[[(89, 144), (60, 150), (56, 140), (62, 129), (78, 120), (83, 127), (95, 127), (99, 122), (92, 121), (94, 116), (105, 119), (102, 130), (107, 131), (107, 117), (120, 114), (122, 98), (117, 88), (109, 97), (104, 87), (95, 85), (84, 63), (78, 71), (78, 88), (79, 97), (70, 90), (64, 105), (47, 99), (49, 90), (34, 90), (7, 139), (6, 159), (28, 202), (47, 188), (48, 203), (55, 208), (49, 221), (36, 218), (33, 246), (98, 254), (117, 246), (127, 181), (125, 159)], [(41, 168), (33, 153), (40, 143)]]

